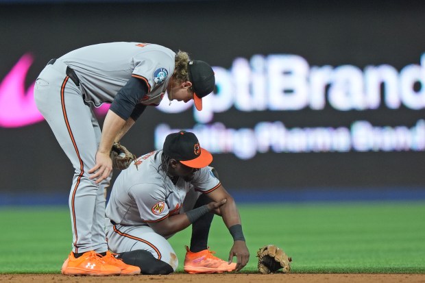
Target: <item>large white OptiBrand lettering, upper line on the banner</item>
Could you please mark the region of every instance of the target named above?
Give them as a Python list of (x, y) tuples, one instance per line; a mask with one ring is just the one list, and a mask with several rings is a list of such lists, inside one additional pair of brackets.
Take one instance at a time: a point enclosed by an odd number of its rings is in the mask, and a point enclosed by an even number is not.
[[(420, 64), (397, 71), (393, 66), (309, 66), (297, 55), (255, 55), (236, 58), (231, 68), (213, 67), (217, 92), (203, 98), (203, 110), (194, 109), (199, 123), (213, 121), (214, 113), (234, 107), (243, 112), (324, 110), (374, 110), (380, 106), (411, 110), (425, 108), (425, 54)], [(164, 100), (167, 100), (165, 97)], [(183, 112), (192, 103), (164, 102), (163, 112)]]

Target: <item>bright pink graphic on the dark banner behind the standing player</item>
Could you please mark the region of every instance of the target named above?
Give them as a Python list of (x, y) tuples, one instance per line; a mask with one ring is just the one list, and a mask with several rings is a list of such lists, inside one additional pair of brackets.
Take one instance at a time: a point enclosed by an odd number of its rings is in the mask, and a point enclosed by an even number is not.
[[(33, 61), (31, 54), (24, 54), (0, 82), (0, 127), (23, 127), (44, 120), (34, 101), (35, 82), (25, 90), (25, 77)], [(95, 113), (105, 116), (109, 106), (104, 103)]]

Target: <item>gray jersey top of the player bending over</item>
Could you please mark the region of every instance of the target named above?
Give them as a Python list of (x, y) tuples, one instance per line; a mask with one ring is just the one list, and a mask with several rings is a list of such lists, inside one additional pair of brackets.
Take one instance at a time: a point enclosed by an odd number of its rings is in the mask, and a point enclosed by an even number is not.
[(76, 49), (58, 58), (77, 73), (86, 101), (112, 103), (130, 77), (148, 86), (141, 103), (158, 106), (174, 71), (175, 53), (161, 45), (111, 42)]

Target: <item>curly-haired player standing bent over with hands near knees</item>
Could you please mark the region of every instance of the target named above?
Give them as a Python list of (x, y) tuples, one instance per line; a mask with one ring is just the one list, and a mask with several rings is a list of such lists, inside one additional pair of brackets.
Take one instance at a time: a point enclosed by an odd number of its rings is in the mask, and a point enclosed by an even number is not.
[[(111, 42), (76, 49), (52, 59), (36, 79), (34, 97), (75, 173), (69, 195), (73, 250), (65, 275), (140, 273), (108, 252), (105, 189), (112, 175), (110, 151), (146, 106), (171, 100), (195, 101), (213, 91), (213, 69), (187, 53), (160, 45)], [(100, 130), (93, 107), (111, 103)]]

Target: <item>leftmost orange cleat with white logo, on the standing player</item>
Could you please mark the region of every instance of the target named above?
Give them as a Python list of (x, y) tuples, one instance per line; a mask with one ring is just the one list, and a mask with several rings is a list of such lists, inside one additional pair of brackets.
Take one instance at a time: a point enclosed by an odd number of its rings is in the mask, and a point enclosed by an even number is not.
[(87, 251), (79, 258), (75, 258), (74, 253), (71, 251), (64, 264), (62, 264), (63, 275), (120, 275), (121, 269), (114, 265), (106, 264), (102, 260), (101, 255), (96, 254), (95, 251)]

